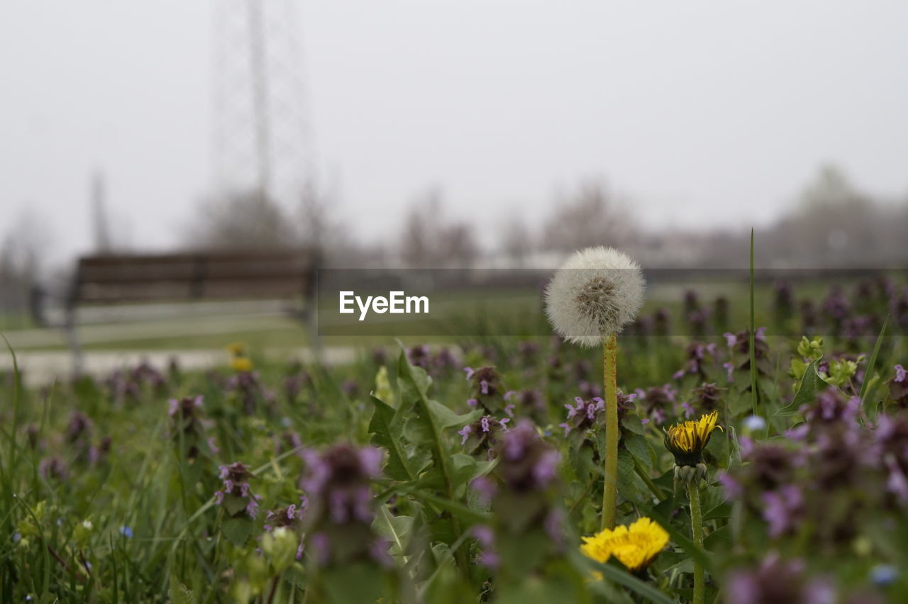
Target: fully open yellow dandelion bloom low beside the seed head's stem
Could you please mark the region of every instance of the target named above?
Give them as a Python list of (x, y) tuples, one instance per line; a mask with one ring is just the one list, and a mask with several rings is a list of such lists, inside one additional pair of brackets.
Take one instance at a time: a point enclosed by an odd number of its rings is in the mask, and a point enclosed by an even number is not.
[(649, 518), (640, 518), (630, 526), (619, 524), (614, 529), (584, 537), (580, 552), (597, 562), (615, 556), (631, 572), (646, 569), (668, 543), (668, 532)]

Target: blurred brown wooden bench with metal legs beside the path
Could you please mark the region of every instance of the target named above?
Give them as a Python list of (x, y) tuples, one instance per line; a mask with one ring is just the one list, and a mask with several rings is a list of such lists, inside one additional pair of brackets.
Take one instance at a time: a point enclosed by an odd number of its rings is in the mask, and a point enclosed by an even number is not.
[(64, 303), (64, 329), (82, 372), (76, 309), (85, 305), (161, 304), (195, 300), (290, 298), (292, 314), (306, 322), (319, 353), (315, 326), (319, 255), (311, 249), (104, 254), (79, 258)]

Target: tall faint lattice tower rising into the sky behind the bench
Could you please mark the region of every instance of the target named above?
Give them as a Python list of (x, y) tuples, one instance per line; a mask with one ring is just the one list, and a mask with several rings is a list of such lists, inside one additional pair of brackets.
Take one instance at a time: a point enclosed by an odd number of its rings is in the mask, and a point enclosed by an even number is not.
[(295, 206), (313, 177), (294, 0), (214, 3), (212, 164), (222, 194)]

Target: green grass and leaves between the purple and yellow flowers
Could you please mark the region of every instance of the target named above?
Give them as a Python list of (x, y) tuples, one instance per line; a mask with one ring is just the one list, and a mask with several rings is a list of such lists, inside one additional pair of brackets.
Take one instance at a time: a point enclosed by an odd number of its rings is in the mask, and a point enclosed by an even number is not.
[[(707, 304), (712, 291), (706, 286), (700, 291)], [(676, 287), (652, 292), (655, 299), (645, 312), (661, 306), (677, 312), (678, 293)], [(737, 330), (748, 325), (748, 293), (742, 284), (726, 294)], [(771, 299), (765, 287), (755, 290), (757, 326), (770, 322)], [(533, 302), (528, 296), (512, 301), (519, 307)], [(752, 413), (746, 388), (751, 374), (739, 371), (733, 382), (727, 381), (723, 362), (741, 365), (745, 356), (729, 352), (722, 336), (708, 338), (716, 344), (716, 353), (706, 356), (702, 375), (678, 379), (672, 375), (688, 366), (689, 338), (622, 338), (618, 384), (623, 392), (672, 384), (678, 392), (676, 403), (664, 411), (668, 421), (675, 421), (684, 413), (682, 403), (693, 405), (697, 413), (704, 411), (696, 389), (715, 383), (721, 388), (716, 408), (725, 432), (714, 434), (704, 454), (709, 481), (702, 492), (706, 539), (701, 549), (689, 538), (683, 490), (673, 484), (674, 460), (662, 443), (665, 424), (657, 423), (644, 399), (637, 400), (622, 422), (618, 520), (629, 523), (649, 515), (665, 525), (669, 541), (648, 574), (632, 576), (613, 561), (598, 569), (607, 580), (590, 582), (589, 571), (597, 566), (576, 552), (580, 535), (598, 527), (601, 431), (592, 424), (588, 431), (576, 427), (565, 435), (560, 424), (583, 419), (583, 415), (568, 417), (565, 405), (575, 404), (574, 397), (584, 388), (598, 384), (595, 368), (600, 353), (553, 346), (551, 337), (538, 326), (538, 316), (529, 317), (522, 326), (503, 323), (514, 317), (513, 307), (504, 305), (501, 297), (494, 302), (470, 308), (466, 300), (459, 300), (461, 308), (455, 308), (450, 320), (464, 323), (454, 324), (457, 329), (450, 331), (476, 333), (429, 338), (436, 344), (460, 345), (453, 350), (456, 362), (429, 367), (431, 381), (399, 357), (400, 350), (388, 336), (328, 338), (329, 346), (355, 346), (361, 351), (350, 365), (295, 365), (290, 358), (281, 358), (280, 351), (303, 346), (305, 332), (289, 320), (285, 325), (280, 317), (258, 319), (261, 322), (248, 331), (237, 326), (230, 333), (210, 336), (163, 333), (115, 344), (129, 349), (220, 349), (242, 341), (259, 372), (258, 384), (248, 392), (230, 388), (229, 381), (236, 375), (226, 366), (213, 372), (166, 375), (160, 385), (139, 381), (134, 391), (87, 378), (49, 388), (20, 388), (15, 380), (5, 380), (0, 384), (0, 601), (31, 596), (34, 601), (228, 602), (251, 593), (253, 601), (316, 602), (326, 601), (326, 594), (342, 592), (356, 595), (334, 601), (375, 601), (379, 596), (389, 602), (413, 601), (419, 599), (414, 594), (421, 594), (425, 601), (459, 602), (475, 600), (484, 589), (492, 589), (498, 601), (567, 598), (631, 604), (640, 598), (689, 598), (692, 560), (703, 563), (710, 574), (706, 601), (714, 601), (719, 597), (716, 586), (727, 585), (730, 572), (755, 568), (770, 550), (780, 551), (784, 560), (805, 560), (807, 578), (828, 573), (842, 594), (862, 589), (876, 593), (868, 579), (874, 566), (904, 568), (908, 521), (901, 504), (885, 496), (886, 480), (880, 470), (884, 465), (868, 466), (854, 478), (856, 483), (825, 491), (806, 472), (814, 465), (797, 466), (793, 472), (796, 483), (804, 485), (809, 514), (797, 531), (782, 538), (767, 534), (763, 493), (748, 492), (752, 499), (746, 503), (726, 502), (725, 492), (715, 482), (720, 470), (745, 475), (737, 448), (743, 435), (757, 440), (766, 435), (772, 443), (800, 446), (784, 436), (804, 421), (800, 410), (789, 406), (795, 388), (809, 384), (818, 390), (826, 384), (818, 375), (804, 380), (788, 375), (793, 359), (803, 362), (795, 358), (797, 337), (771, 340), (765, 364), (770, 369), (755, 375), (765, 434), (746, 432), (745, 417)], [(264, 324), (274, 328), (265, 329)], [(520, 353), (522, 337), (497, 336), (502, 325), (533, 334), (538, 352)], [(426, 338), (402, 340), (410, 346)], [(109, 349), (111, 344), (104, 346)], [(370, 354), (372, 346), (384, 346), (388, 356), (376, 360)], [(276, 356), (265, 354), (274, 350)], [(827, 338), (824, 342), (827, 357), (839, 350), (867, 355), (873, 350), (873, 365), (880, 372), (876, 387), (864, 390), (854, 382), (854, 375), (845, 375), (838, 385), (843, 397), (859, 393), (866, 397), (858, 429), (861, 438), (872, 438), (880, 410), (904, 413), (887, 399), (885, 384), (892, 378), (892, 366), (904, 361), (908, 349), (897, 337), (875, 347), (873, 341)], [(494, 377), (489, 378), (494, 392), (484, 394), (477, 381), (464, 379), (463, 365), (495, 365)], [(286, 392), (285, 379), (303, 374), (299, 392)], [(122, 375), (121, 379), (130, 378)], [(510, 390), (535, 390), (540, 395), (538, 407), (514, 410), (510, 426), (515, 427), (519, 418), (531, 420), (531, 432), (540, 443), (534, 446), (558, 452), (558, 481), (546, 489), (508, 495), (507, 472), (519, 468), (499, 467), (507, 464), (495, 457), (501, 441), (462, 443), (459, 430), (464, 425), (476, 426), (470, 433), (474, 436), (483, 434), (479, 414), (491, 414), (495, 421), (505, 417), (504, 393)], [(815, 394), (802, 391), (798, 400), (810, 402)], [(167, 400), (194, 395), (204, 397), (199, 422), (192, 429), (181, 428), (183, 424), (168, 415)], [(477, 411), (467, 403), (471, 398), (488, 409)], [(77, 429), (76, 413), (88, 418), (87, 428)], [(263, 513), (255, 520), (242, 513), (232, 517), (225, 505), (215, 502), (214, 493), (222, 488), (218, 466), (241, 461), (254, 471), (249, 483), (252, 492), (262, 497), (262, 511), (299, 505), (306, 464), (293, 448), (292, 435), (299, 437), (303, 447), (319, 451), (334, 443), (371, 443), (385, 450), (382, 474), (367, 481), (372, 509), (377, 511), (374, 522), (332, 524), (320, 516), (319, 493), (307, 492), (310, 515), (293, 528), (294, 540), (302, 532), (307, 535), (307, 555), (315, 551), (311, 540), (319, 531), (335, 531), (333, 539), (344, 535), (342, 542), (352, 552), (350, 560), (341, 563), (331, 558), (334, 561), (320, 566), (304, 558), (281, 566), (280, 556), (259, 541), (267, 533)], [(111, 439), (110, 449), (98, 455), (105, 437)], [(209, 447), (209, 438), (217, 450)], [(498, 438), (504, 436), (499, 433)], [(487, 450), (498, 461), (490, 462)], [(809, 450), (804, 450), (808, 457)], [(54, 460), (65, 475), (48, 471)], [(487, 475), (498, 484), (497, 499), (491, 505), (479, 501), (470, 488), (474, 480)], [(755, 488), (750, 482), (745, 486)], [(563, 518), (558, 525), (563, 532), (560, 546), (546, 530), (548, 516), (540, 514), (548, 510), (559, 510), (558, 517)], [(857, 531), (846, 541), (836, 541), (837, 533), (829, 528), (839, 526), (843, 518), (824, 515), (838, 510), (847, 512), (845, 525)], [(477, 561), (482, 550), (472, 532), (477, 523), (495, 529), (501, 558), (498, 571)], [(390, 555), (396, 564), (390, 570), (360, 549), (376, 534), (390, 537), (394, 546)], [(869, 545), (858, 550), (854, 543)], [(296, 541), (291, 545), (295, 547)], [(332, 556), (341, 553), (335, 550)], [(908, 578), (901, 575), (885, 592), (892, 598), (906, 594)]]

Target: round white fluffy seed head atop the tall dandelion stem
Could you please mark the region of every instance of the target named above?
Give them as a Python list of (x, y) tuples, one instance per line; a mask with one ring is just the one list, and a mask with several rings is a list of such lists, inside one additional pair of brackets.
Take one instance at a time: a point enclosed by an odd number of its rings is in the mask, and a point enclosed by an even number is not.
[(637, 318), (646, 281), (640, 265), (615, 248), (586, 248), (568, 258), (546, 287), (555, 332), (580, 346), (598, 346)]

